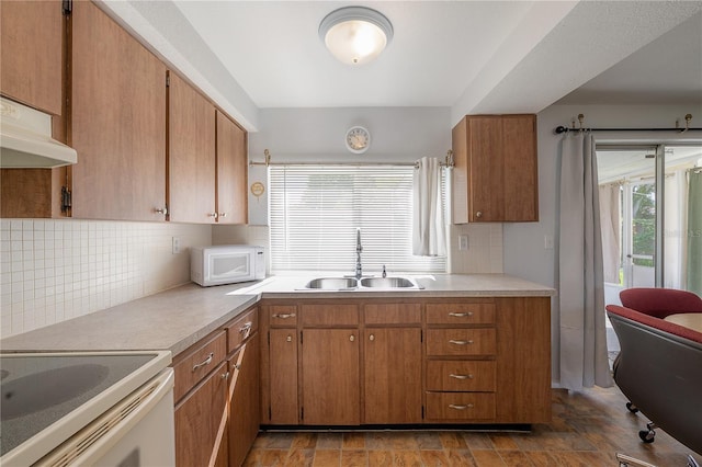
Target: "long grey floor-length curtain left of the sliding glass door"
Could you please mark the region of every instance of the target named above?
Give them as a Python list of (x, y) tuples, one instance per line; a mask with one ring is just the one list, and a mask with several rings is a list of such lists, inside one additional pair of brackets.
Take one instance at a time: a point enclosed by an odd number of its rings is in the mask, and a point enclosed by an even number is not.
[(609, 387), (597, 156), (589, 133), (561, 146), (558, 305), (561, 385)]

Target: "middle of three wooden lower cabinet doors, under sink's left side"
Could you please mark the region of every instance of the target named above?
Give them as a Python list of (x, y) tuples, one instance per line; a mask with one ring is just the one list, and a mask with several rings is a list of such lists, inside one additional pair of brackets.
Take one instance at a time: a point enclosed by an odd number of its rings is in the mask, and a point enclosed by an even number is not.
[(302, 337), (303, 423), (358, 425), (358, 329), (305, 329)]

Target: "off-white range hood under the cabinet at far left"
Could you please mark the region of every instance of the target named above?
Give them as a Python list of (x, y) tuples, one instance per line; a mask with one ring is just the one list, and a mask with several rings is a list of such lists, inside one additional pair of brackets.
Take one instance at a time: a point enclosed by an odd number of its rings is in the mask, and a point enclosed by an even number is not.
[(0, 168), (48, 169), (78, 161), (71, 147), (52, 138), (52, 116), (0, 98)]

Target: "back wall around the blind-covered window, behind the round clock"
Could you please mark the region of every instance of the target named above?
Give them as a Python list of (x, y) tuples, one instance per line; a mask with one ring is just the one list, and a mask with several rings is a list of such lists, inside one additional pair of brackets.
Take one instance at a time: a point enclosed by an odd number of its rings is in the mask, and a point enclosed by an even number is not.
[[(443, 158), (451, 149), (449, 107), (344, 107), (261, 110), (259, 133), (249, 134), (249, 160), (262, 162), (269, 149), (272, 162), (414, 162), (428, 156)], [(353, 155), (344, 147), (349, 127), (371, 133), (371, 148)], [(249, 184), (267, 183), (265, 168), (249, 169)], [(268, 225), (268, 198), (249, 192), (249, 223)], [(215, 226), (213, 243), (268, 244), (265, 227)], [(468, 249), (457, 249), (457, 236), (468, 236)], [(449, 229), (449, 271), (502, 272), (502, 226), (464, 225)]]

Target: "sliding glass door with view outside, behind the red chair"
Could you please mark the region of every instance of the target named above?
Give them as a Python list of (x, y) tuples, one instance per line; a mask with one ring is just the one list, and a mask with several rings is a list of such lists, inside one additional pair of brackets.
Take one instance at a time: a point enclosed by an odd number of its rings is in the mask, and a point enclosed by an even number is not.
[(627, 287), (702, 295), (702, 146), (598, 146), (605, 301)]

